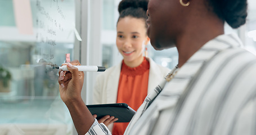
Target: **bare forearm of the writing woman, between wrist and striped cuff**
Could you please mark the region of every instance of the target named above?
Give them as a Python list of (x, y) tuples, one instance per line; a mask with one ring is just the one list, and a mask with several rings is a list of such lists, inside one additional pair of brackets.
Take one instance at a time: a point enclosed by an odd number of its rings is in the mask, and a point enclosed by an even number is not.
[(78, 134), (84, 135), (91, 128), (95, 119), (93, 118), (90, 111), (87, 109), (86, 104), (84, 104), (82, 98), (79, 100), (72, 100), (65, 102), (69, 109), (71, 118), (77, 129)]

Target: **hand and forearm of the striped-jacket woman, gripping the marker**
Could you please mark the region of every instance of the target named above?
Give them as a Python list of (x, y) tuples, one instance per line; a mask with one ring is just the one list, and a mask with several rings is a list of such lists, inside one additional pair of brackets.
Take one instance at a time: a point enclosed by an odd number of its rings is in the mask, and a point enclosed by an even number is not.
[(59, 71), (60, 96), (69, 109), (78, 134), (86, 134), (95, 122), (95, 118), (93, 118), (81, 97), (84, 73), (79, 72), (73, 66), (80, 65), (80, 63), (78, 61), (72, 61), (70, 63), (63, 64), (68, 65), (69, 71)]

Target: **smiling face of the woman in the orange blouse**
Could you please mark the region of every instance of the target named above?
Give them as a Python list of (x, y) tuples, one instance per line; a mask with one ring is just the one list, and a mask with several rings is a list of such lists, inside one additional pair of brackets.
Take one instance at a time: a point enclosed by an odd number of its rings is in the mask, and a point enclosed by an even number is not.
[(143, 51), (149, 38), (143, 19), (124, 17), (116, 26), (116, 46), (128, 66), (138, 66), (143, 61)]

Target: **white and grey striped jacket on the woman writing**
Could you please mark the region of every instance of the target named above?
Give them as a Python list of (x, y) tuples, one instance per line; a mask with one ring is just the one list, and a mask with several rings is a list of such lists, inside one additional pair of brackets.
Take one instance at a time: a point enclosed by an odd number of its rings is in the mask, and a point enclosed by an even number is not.
[(256, 56), (241, 47), (235, 34), (210, 40), (146, 97), (124, 134), (256, 134)]

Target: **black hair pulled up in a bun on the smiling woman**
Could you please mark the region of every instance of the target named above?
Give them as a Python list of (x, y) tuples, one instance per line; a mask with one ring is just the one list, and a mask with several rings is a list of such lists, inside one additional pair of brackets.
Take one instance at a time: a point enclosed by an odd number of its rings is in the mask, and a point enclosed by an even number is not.
[(149, 0), (122, 0), (118, 6), (119, 18), (118, 21), (124, 17), (131, 16), (137, 19), (145, 20), (147, 28), (147, 4)]

